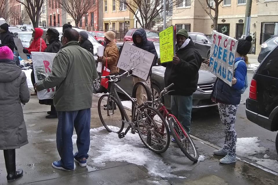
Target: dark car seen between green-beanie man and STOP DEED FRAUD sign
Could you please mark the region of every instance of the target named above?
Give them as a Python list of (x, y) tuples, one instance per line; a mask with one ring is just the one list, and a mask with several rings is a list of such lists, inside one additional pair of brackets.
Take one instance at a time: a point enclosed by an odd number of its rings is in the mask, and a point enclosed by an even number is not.
[(209, 59), (209, 53), (212, 45), (212, 34), (203, 34), (200, 32), (188, 32), (194, 42), (195, 48), (199, 51), (203, 59)]

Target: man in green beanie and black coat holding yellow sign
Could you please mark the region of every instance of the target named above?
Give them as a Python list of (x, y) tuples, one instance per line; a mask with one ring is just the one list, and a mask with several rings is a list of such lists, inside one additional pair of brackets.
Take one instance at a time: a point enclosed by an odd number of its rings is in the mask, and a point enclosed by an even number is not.
[[(192, 39), (185, 29), (180, 29), (176, 36), (176, 53), (173, 62), (161, 64), (166, 67), (165, 86), (174, 83), (171, 90), (171, 111), (188, 133), (191, 132), (192, 94), (197, 89), (199, 69), (202, 57), (195, 49)], [(158, 59), (160, 64), (160, 59)], [(172, 139), (172, 141), (175, 141)]]

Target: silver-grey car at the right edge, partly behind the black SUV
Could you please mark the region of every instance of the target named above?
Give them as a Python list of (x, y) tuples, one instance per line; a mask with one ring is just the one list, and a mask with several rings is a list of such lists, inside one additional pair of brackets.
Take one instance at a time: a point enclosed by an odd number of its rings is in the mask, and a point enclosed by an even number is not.
[(268, 40), (261, 44), (261, 52), (258, 56), (258, 62), (261, 63), (262, 60), (267, 56), (267, 54), (278, 45), (278, 35), (272, 35)]

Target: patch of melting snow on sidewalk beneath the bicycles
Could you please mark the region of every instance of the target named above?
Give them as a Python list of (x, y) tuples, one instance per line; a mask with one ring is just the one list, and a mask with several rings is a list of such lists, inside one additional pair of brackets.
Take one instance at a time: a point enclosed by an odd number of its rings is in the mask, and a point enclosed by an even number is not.
[[(150, 151), (140, 140), (138, 134), (127, 135), (120, 139), (118, 134), (111, 132), (101, 133), (105, 128), (99, 127), (90, 129), (91, 144), (89, 156), (94, 156), (92, 161), (94, 166), (105, 166), (105, 162), (129, 162), (136, 165), (145, 166), (148, 173), (157, 177), (167, 178), (186, 178), (171, 174), (180, 169), (172, 169), (171, 165), (164, 164), (161, 156)], [(76, 136), (72, 137), (73, 143), (76, 143)], [(94, 146), (98, 143), (98, 147)], [(99, 156), (93, 155), (92, 151), (100, 153)]]

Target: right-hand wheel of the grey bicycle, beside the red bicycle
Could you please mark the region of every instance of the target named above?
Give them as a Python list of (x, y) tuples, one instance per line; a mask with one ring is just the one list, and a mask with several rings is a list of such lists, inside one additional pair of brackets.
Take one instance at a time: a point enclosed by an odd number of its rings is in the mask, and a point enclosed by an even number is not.
[(170, 144), (169, 128), (157, 109), (147, 106), (136, 115), (138, 134), (144, 145), (153, 152), (163, 153)]

